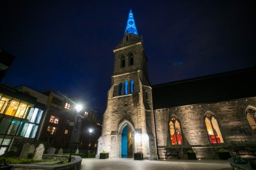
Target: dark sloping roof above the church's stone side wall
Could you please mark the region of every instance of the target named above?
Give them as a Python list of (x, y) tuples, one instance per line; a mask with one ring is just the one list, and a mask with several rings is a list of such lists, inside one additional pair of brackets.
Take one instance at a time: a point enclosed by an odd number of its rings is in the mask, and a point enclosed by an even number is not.
[(256, 66), (152, 86), (154, 109), (256, 97)]

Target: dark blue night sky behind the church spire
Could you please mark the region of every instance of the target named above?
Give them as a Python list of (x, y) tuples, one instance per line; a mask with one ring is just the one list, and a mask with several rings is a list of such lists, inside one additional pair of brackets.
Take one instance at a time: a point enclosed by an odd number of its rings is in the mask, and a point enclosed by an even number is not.
[(15, 56), (2, 83), (76, 97), (101, 115), (130, 9), (154, 85), (255, 66), (255, 8), (253, 1), (0, 1), (0, 48)]

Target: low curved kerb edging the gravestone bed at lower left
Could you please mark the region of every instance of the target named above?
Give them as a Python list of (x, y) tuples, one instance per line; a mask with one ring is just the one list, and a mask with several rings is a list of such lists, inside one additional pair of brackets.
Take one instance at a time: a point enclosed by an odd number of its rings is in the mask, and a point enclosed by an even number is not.
[[(67, 157), (68, 155), (49, 155), (44, 154), (44, 157)], [(12, 169), (80, 169), (82, 158), (79, 156), (73, 156), (74, 160), (72, 162), (68, 162), (66, 164), (60, 164), (58, 166), (45, 166), (45, 165), (38, 165), (38, 164), (10, 164)]]

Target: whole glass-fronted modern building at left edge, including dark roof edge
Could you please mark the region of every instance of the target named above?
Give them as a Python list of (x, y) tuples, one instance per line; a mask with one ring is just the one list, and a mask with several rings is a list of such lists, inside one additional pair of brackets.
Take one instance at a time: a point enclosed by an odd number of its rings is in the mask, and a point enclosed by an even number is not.
[(0, 155), (16, 141), (35, 141), (44, 110), (35, 97), (0, 85)]

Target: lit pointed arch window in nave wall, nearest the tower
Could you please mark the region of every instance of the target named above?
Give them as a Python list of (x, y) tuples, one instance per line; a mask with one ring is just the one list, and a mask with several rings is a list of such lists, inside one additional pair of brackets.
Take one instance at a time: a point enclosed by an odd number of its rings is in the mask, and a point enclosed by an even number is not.
[(179, 123), (179, 120), (176, 118), (176, 116), (172, 115), (172, 118), (169, 123), (169, 127), (170, 127), (171, 143), (182, 144), (180, 123)]

